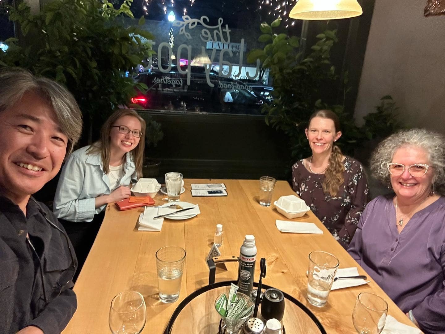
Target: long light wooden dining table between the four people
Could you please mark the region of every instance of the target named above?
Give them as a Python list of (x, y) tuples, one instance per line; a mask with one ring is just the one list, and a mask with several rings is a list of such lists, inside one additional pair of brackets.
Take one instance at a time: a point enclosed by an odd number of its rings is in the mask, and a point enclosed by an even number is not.
[[(190, 183), (219, 182), (226, 184), (227, 197), (191, 196)], [(205, 257), (211, 248), (216, 224), (223, 224), (222, 255), (238, 256), (244, 236), (254, 234), (257, 258), (265, 257), (267, 260), (263, 284), (281, 289), (301, 301), (316, 315), (327, 333), (355, 333), (352, 310), (360, 292), (372, 292), (383, 297), (389, 305), (388, 314), (413, 326), (374, 281), (368, 285), (332, 291), (328, 304), (323, 308), (314, 307), (306, 301), (307, 256), (310, 252), (323, 250), (335, 254), (340, 260), (340, 268), (358, 266), (312, 212), (295, 220), (317, 224), (323, 235), (281, 233), (275, 227), (275, 220), (287, 219), (276, 211), (273, 204), (269, 208), (258, 204), (258, 180), (187, 179), (185, 188), (181, 200), (198, 203), (201, 214), (189, 220), (165, 219), (161, 232), (137, 231), (136, 222), (142, 209), (118, 212), (114, 205), (106, 208), (101, 229), (74, 286), (77, 311), (64, 333), (109, 333), (110, 301), (121, 291), (137, 290), (144, 295), (147, 306), (147, 324), (143, 333), (161, 334), (179, 302), (207, 285), (209, 270)], [(287, 182), (278, 181), (272, 200), (292, 193)], [(165, 203), (160, 194), (155, 200), (157, 204)], [(181, 294), (179, 300), (171, 304), (164, 304), (158, 299), (154, 257), (156, 250), (166, 245), (181, 246), (187, 253)], [(359, 273), (366, 275), (358, 267)], [(236, 263), (228, 263), (227, 271), (217, 269), (216, 281), (235, 280), (237, 269)], [(258, 278), (259, 261), (255, 268), (255, 281)], [(214, 310), (209, 312), (214, 313)], [(191, 322), (190, 318), (184, 321)], [(182, 334), (214, 334), (192, 330), (185, 325), (182, 328)]]

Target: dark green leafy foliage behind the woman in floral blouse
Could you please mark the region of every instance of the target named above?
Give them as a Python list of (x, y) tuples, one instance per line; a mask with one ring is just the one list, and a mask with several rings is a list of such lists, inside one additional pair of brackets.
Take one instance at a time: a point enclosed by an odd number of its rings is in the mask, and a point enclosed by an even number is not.
[[(337, 144), (344, 154), (354, 155), (357, 148), (375, 138), (384, 138), (402, 126), (396, 120), (397, 107), (390, 96), (381, 98), (375, 113), (364, 117), (363, 126), (356, 126), (352, 112), (344, 110), (350, 90), (348, 73), (343, 73), (343, 105), (330, 104), (324, 87), (333, 84), (338, 76), (330, 62), (332, 45), (337, 41), (336, 30), (326, 30), (316, 36), (317, 42), (304, 57), (299, 52), (299, 38), (285, 33), (274, 33), (281, 19), (270, 25), (261, 24), (259, 41), (266, 43), (263, 49), (254, 49), (247, 61), (260, 61), (269, 69), (273, 78), (274, 100), (263, 106), (268, 125), (283, 130), (289, 137), (291, 158), (301, 159), (311, 155), (305, 129), (310, 115), (319, 109), (334, 111), (340, 120), (342, 136)], [(328, 101), (328, 102), (327, 102)], [(370, 145), (368, 145), (370, 146)], [(371, 145), (372, 146), (372, 145)]]

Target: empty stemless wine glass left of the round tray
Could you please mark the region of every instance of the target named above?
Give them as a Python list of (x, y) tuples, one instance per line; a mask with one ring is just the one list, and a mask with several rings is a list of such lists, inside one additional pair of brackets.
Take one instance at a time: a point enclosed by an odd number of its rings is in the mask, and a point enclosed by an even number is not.
[(147, 310), (141, 293), (121, 292), (111, 301), (109, 326), (113, 334), (141, 333), (146, 320)]

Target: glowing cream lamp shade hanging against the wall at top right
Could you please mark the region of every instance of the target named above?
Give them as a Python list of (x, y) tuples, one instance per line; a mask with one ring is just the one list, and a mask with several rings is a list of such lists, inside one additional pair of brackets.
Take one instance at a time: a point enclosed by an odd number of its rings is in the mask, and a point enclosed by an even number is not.
[(332, 20), (361, 14), (363, 10), (357, 0), (299, 0), (289, 17), (299, 20)]

